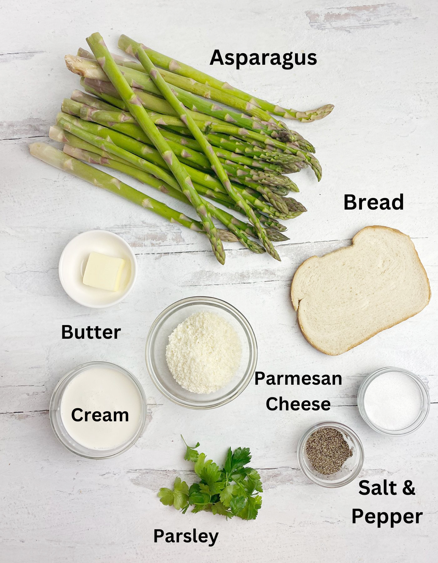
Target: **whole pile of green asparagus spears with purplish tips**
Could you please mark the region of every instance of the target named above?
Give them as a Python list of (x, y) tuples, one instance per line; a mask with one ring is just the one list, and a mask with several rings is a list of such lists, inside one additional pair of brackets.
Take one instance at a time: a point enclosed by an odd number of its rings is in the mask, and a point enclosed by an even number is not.
[[(222, 240), (280, 260), (272, 242), (288, 238), (279, 221), (306, 211), (287, 197), (298, 187), (284, 174), (309, 166), (320, 180), (321, 167), (310, 142), (271, 114), (312, 121), (333, 106), (304, 112), (281, 108), (126, 35), (120, 37), (119, 47), (136, 61), (111, 55), (99, 33), (87, 43), (91, 53), (81, 48), (77, 56), (65, 57), (69, 70), (81, 75), (85, 92), (75, 90), (62, 102), (50, 128), (50, 138), (63, 143), (64, 152), (34, 143), (31, 153), (203, 233), (222, 264)], [(123, 172), (191, 204), (199, 220), (90, 164)], [(213, 218), (225, 228), (218, 229)]]

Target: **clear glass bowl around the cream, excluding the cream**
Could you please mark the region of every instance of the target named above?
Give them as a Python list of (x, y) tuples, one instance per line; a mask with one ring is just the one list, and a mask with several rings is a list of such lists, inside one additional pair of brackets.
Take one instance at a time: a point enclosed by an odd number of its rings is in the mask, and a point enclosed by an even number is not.
[[(71, 379), (77, 376), (79, 373), (82, 373), (84, 370), (95, 367), (95, 366), (104, 366), (107, 368), (115, 369), (120, 373), (123, 373), (124, 376), (131, 379), (134, 385), (137, 387), (138, 394), (140, 395), (141, 400), (141, 414), (140, 414), (140, 421), (138, 422), (138, 427), (135, 434), (128, 440), (126, 443), (120, 444), (117, 448), (110, 448), (104, 450), (95, 450), (86, 448), (82, 444), (79, 444), (76, 440), (74, 440), (69, 433), (66, 431), (64, 423), (62, 422), (61, 418), (61, 400), (62, 395), (64, 394), (65, 388), (70, 383)], [(57, 383), (55, 389), (52, 393), (52, 398), (50, 399), (50, 407), (49, 407), (49, 416), (50, 416), (50, 424), (52, 426), (53, 432), (55, 432), (55, 436), (61, 442), (65, 448), (73, 452), (74, 454), (81, 455), (82, 457), (86, 457), (89, 459), (106, 459), (115, 457), (116, 455), (120, 455), (123, 452), (126, 452), (133, 444), (136, 443), (138, 438), (141, 436), (143, 428), (146, 422), (146, 396), (143, 388), (138, 381), (138, 379), (133, 376), (131, 372), (128, 372), (127, 369), (121, 368), (119, 365), (111, 364), (108, 361), (90, 361), (87, 364), (78, 365), (78, 367), (72, 369), (70, 372), (66, 373), (64, 377), (62, 377), (59, 382)]]

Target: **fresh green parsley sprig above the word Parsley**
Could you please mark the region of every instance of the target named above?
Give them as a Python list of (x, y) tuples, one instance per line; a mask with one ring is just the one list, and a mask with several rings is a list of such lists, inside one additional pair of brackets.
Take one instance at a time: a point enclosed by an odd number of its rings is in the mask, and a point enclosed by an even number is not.
[(199, 453), (198, 447), (199, 442), (193, 447), (186, 444), (184, 459), (194, 463), (200, 481), (189, 487), (177, 477), (173, 490), (159, 490), (160, 501), (168, 506), (173, 504), (183, 514), (192, 507), (191, 512), (204, 510), (226, 518), (256, 519), (262, 506), (262, 498), (257, 493), (262, 493), (263, 488), (258, 472), (248, 467), (249, 448), (236, 448), (234, 452), (229, 448), (224, 468), (220, 469), (211, 459), (206, 459), (205, 454)]

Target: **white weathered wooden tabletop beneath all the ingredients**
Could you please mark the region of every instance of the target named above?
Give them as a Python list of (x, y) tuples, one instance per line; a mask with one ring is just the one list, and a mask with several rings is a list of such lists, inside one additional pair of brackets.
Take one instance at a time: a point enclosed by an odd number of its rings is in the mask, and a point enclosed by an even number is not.
[[(437, 185), (435, 2), (355, 6), (339, 1), (100, 3), (84, 0), (3, 2), (0, 8), (1, 327), (0, 561), (319, 561), (427, 562), (437, 559)], [(357, 2), (356, 2), (357, 3)], [(351, 6), (353, 4), (353, 6)], [(339, 7), (340, 6), (340, 7)], [(78, 79), (63, 56), (86, 47), (99, 30), (110, 46), (120, 33), (138, 37), (260, 97), (308, 109), (327, 102), (332, 115), (293, 123), (318, 150), (323, 180), (294, 180), (309, 209), (290, 223), (281, 263), (229, 244), (226, 266), (201, 236), (32, 159), (61, 100)], [(225, 52), (315, 52), (315, 66), (222, 68)], [(403, 211), (344, 211), (343, 195), (404, 193)], [(150, 191), (152, 195), (152, 191)], [(289, 302), (296, 267), (313, 254), (350, 243), (366, 225), (409, 234), (430, 278), (432, 301), (414, 318), (335, 358), (302, 337)], [(64, 245), (90, 229), (108, 229), (135, 249), (135, 289), (119, 305), (91, 310), (62, 290), (57, 263)], [(435, 292), (435, 295), (433, 293)], [(339, 373), (341, 387), (248, 386), (233, 403), (207, 412), (173, 405), (150, 382), (144, 343), (164, 307), (187, 296), (229, 301), (253, 325), (258, 369), (269, 373)], [(121, 327), (117, 341), (61, 340), (61, 325)], [(71, 454), (50, 428), (48, 404), (59, 378), (91, 360), (123, 365), (148, 396), (148, 422), (137, 444), (108, 461)], [(418, 373), (431, 410), (415, 434), (374, 433), (356, 407), (365, 375), (385, 365)], [(269, 412), (269, 396), (329, 399), (329, 413)], [(358, 480), (326, 490), (298, 468), (296, 446), (312, 423), (334, 419), (364, 444), (361, 477), (397, 482), (396, 497), (363, 497)], [(249, 446), (265, 492), (253, 522), (208, 513), (182, 516), (157, 491), (176, 475), (191, 477), (180, 434), (221, 459), (229, 445)], [(410, 479), (416, 494), (401, 494)], [(419, 524), (394, 529), (353, 525), (353, 508), (422, 511)], [(206, 544), (153, 543), (154, 528), (219, 532)]]

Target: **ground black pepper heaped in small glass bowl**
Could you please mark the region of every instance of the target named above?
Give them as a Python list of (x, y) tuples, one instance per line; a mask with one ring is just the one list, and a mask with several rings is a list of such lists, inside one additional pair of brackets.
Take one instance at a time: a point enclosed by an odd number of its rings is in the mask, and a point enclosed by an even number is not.
[(315, 430), (306, 442), (306, 454), (312, 467), (322, 475), (337, 473), (352, 455), (344, 437), (336, 428)]

